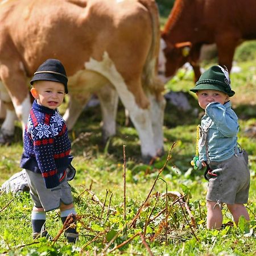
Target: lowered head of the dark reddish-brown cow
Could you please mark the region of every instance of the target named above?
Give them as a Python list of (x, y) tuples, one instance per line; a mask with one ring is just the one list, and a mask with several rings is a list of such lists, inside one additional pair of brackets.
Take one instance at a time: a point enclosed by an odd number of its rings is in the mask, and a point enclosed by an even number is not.
[(158, 76), (164, 83), (172, 78), (177, 69), (189, 61), (191, 42), (172, 44), (161, 38)]

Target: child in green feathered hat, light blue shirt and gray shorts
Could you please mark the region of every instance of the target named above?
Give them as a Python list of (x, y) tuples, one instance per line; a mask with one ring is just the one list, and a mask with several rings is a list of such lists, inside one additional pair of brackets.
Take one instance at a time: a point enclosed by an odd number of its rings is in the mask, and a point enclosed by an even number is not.
[(196, 164), (207, 167), (207, 228), (221, 228), (224, 203), (236, 224), (240, 216), (249, 220), (244, 205), (250, 187), (248, 156), (237, 146), (238, 117), (229, 101), (235, 92), (226, 67), (210, 67), (191, 91), (197, 94), (199, 105), (205, 110), (198, 142), (199, 163)]

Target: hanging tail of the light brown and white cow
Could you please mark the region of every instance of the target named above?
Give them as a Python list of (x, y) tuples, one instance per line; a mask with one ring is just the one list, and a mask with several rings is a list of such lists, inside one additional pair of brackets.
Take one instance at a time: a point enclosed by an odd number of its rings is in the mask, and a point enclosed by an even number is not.
[(150, 88), (151, 91), (156, 94), (160, 94), (164, 90), (163, 83), (158, 79), (158, 54), (160, 47), (160, 22), (159, 22), (159, 12), (158, 6), (154, 0), (138, 0), (150, 14), (151, 24), (152, 24), (152, 42), (150, 51), (148, 52), (146, 63), (143, 68), (143, 86), (145, 88)]

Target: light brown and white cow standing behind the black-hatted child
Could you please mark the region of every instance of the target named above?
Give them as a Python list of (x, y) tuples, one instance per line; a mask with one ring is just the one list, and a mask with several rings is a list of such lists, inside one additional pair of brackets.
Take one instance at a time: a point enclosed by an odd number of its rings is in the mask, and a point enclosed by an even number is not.
[[(153, 0), (6, 0), (0, 2), (2, 138), (23, 129), (30, 110), (29, 78), (46, 59), (61, 60), (72, 129), (92, 93), (101, 102), (105, 138), (115, 134), (118, 96), (141, 139), (145, 158), (163, 148), (163, 84), (156, 78), (159, 16)], [(13, 106), (12, 104), (13, 103)], [(15, 110), (15, 112), (14, 112)]]

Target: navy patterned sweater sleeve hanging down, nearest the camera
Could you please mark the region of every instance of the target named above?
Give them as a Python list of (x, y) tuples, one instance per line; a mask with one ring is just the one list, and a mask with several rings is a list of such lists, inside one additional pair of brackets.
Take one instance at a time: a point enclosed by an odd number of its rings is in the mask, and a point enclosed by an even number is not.
[(32, 130), (36, 161), (47, 188), (60, 184), (55, 159), (53, 158), (54, 137), (51, 127), (46, 123), (38, 123)]

